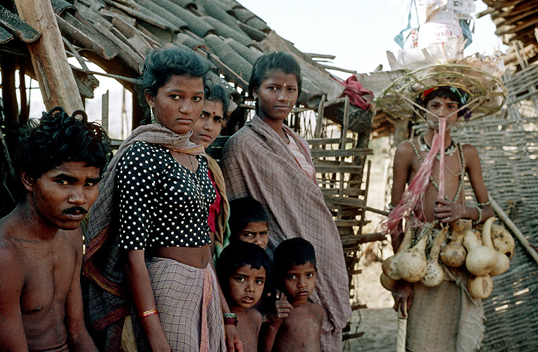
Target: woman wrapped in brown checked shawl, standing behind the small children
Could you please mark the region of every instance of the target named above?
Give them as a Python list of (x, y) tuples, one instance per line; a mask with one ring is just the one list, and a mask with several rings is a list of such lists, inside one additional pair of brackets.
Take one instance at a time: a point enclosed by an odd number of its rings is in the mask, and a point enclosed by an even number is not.
[(325, 309), (321, 349), (342, 351), (342, 328), (351, 316), (342, 242), (318, 187), (310, 149), (284, 120), (301, 94), (301, 70), (282, 52), (254, 64), (249, 94), (256, 116), (223, 149), (221, 166), (230, 200), (251, 196), (269, 214), (268, 253), (293, 237), (313, 244), (318, 280), (312, 301)]

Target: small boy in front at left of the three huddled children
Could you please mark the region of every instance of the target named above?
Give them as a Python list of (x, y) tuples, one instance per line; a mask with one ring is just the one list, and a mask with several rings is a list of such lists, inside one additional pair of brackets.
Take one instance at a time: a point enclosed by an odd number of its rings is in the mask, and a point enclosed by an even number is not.
[(237, 331), (245, 352), (256, 352), (261, 313), (252, 308), (261, 298), (270, 259), (260, 246), (244, 241), (230, 244), (217, 260), (217, 277), (230, 311), (237, 315)]

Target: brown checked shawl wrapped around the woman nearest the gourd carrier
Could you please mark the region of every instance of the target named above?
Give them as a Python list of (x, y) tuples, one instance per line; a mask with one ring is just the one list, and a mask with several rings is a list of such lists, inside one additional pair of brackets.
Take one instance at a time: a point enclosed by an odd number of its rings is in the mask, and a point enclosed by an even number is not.
[[(288, 127), (284, 130), (311, 159), (306, 141)], [(302, 237), (313, 244), (318, 279), (311, 300), (325, 309), (327, 334), (345, 327), (351, 306), (342, 242), (318, 184), (306, 176), (282, 138), (258, 116), (228, 140), (221, 165), (230, 200), (251, 196), (267, 210), (271, 257), (284, 239)], [(323, 346), (323, 351), (342, 348)]]

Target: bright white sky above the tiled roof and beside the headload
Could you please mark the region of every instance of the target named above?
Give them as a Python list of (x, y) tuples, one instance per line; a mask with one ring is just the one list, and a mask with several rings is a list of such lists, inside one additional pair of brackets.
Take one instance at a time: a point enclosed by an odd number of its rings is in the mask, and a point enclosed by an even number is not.
[[(297, 49), (335, 55), (334, 65), (358, 73), (371, 72), (380, 63), (383, 70), (389, 70), (386, 51), (397, 53), (400, 47), (394, 36), (407, 25), (402, 3), (408, 1), (401, 0), (237, 1)], [(475, 5), (477, 12), (487, 8), (481, 0)], [(489, 15), (477, 20), (473, 43), (465, 55), (492, 54), (500, 43), (495, 29)]]

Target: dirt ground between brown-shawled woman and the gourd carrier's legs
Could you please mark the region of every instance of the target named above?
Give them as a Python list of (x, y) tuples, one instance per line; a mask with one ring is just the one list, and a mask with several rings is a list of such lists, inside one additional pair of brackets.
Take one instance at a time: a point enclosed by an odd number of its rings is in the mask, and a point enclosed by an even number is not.
[(364, 332), (362, 337), (344, 341), (344, 351), (394, 352), (398, 317), (392, 309), (392, 295), (384, 289), (379, 277), (381, 263), (360, 267), (358, 297), (368, 308), (354, 310), (351, 332)]

